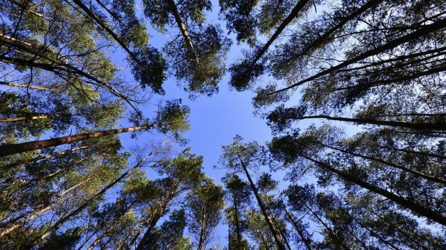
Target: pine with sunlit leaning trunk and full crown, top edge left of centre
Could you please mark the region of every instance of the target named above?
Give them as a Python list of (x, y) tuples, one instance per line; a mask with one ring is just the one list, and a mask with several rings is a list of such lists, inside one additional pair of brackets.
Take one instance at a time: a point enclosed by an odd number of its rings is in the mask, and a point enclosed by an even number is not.
[(176, 26), (180, 33), (164, 47), (164, 52), (176, 78), (185, 81), (185, 90), (191, 97), (217, 92), (231, 41), (222, 36), (218, 26), (203, 25), (204, 11), (212, 7), (210, 1), (146, 0), (143, 3), (144, 14), (154, 27), (165, 31), (167, 25)]

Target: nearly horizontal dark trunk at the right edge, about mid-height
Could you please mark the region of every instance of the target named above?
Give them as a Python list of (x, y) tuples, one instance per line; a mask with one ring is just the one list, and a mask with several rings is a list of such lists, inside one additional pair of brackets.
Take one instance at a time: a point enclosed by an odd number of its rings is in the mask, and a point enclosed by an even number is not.
[(364, 118), (330, 117), (328, 115), (295, 117), (295, 119), (328, 119), (339, 122), (354, 122), (356, 124), (374, 124), (378, 126), (410, 128), (422, 131), (426, 130), (446, 131), (446, 122), (431, 122), (431, 123), (395, 122), (395, 121), (379, 121), (376, 119), (364, 119)]

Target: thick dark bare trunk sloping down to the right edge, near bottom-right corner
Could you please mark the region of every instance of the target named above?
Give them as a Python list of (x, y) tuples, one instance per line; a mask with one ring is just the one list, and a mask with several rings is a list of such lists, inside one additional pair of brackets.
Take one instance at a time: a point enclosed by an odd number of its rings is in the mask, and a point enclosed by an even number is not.
[(402, 206), (403, 208), (407, 208), (408, 210), (411, 210), (413, 213), (424, 216), (427, 219), (431, 219), (433, 222), (438, 222), (439, 224), (446, 226), (446, 217), (436, 211), (433, 211), (429, 208), (424, 208), (423, 206), (420, 206), (417, 203), (408, 201), (407, 199), (404, 199), (403, 197), (399, 197), (398, 195), (393, 194), (387, 190), (383, 190), (382, 188), (378, 188), (375, 185), (371, 185), (369, 183), (366, 183), (365, 181), (361, 181), (361, 180), (355, 178), (354, 176), (351, 176), (350, 174), (346, 174), (345, 172), (342, 172), (339, 169), (335, 169), (334, 167), (328, 165), (327, 163), (323, 163), (319, 160), (314, 160), (313, 158), (310, 158), (305, 155), (301, 155), (301, 156), (313, 163), (316, 163), (320, 167), (323, 167), (324, 169), (327, 169), (328, 171), (333, 172), (334, 174), (337, 174), (337, 176), (343, 178), (346, 181), (350, 181), (350, 182), (355, 183), (356, 185), (359, 185), (360, 187), (365, 188), (371, 192), (380, 194), (383, 197), (390, 199), (394, 203), (397, 203), (399, 206)]

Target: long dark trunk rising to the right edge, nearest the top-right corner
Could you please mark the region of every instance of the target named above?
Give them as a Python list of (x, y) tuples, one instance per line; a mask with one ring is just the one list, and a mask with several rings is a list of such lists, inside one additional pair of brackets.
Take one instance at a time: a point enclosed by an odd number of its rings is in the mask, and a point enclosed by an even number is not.
[(360, 55), (357, 55), (351, 59), (348, 59), (346, 61), (344, 61), (343, 63), (339, 63), (339, 65), (330, 67), (328, 69), (325, 69), (321, 72), (319, 72), (318, 74), (314, 74), (313, 76), (310, 76), (309, 78), (305, 78), (304, 80), (298, 81), (297, 83), (293, 83), (291, 85), (289, 85), (286, 88), (282, 88), (280, 90), (276, 90), (274, 92), (271, 92), (270, 94), (277, 94), (279, 92), (283, 92), (285, 90), (289, 90), (291, 88), (295, 88), (298, 87), (299, 85), (302, 85), (304, 83), (307, 83), (309, 81), (313, 81), (316, 78), (319, 78), (321, 76), (325, 76), (327, 74), (330, 74), (332, 72), (337, 71), (338, 69), (341, 69), (343, 67), (346, 67), (348, 65), (351, 65), (353, 63), (357, 63), (360, 60), (364, 60), (365, 58), (368, 58), (370, 56), (374, 56), (377, 55), (378, 53), (382, 53), (384, 51), (387, 51), (389, 49), (394, 49), (395, 47), (398, 47), (401, 44), (405, 44), (406, 42), (412, 41), (412, 40), (416, 40), (418, 38), (422, 38), (425, 35), (429, 35), (430, 33), (439, 31), (442, 28), (446, 27), (446, 22), (445, 20), (439, 20), (436, 22), (433, 22), (432, 24), (427, 24), (424, 25), (422, 27), (420, 27), (419, 29), (417, 29), (417, 31), (413, 31), (412, 33), (408, 33), (406, 35), (403, 35), (401, 38), (397, 38), (394, 39), (390, 42), (387, 42), (383, 45), (380, 45), (378, 47), (376, 47), (375, 49), (370, 49), (369, 51), (365, 51), (364, 53), (361, 53)]

